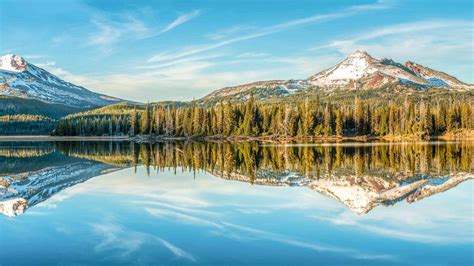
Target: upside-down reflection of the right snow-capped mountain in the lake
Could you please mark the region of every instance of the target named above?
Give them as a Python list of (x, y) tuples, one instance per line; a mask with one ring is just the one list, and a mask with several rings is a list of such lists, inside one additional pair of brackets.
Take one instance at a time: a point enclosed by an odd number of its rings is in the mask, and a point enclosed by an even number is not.
[(403, 200), (409, 203), (416, 202), (474, 179), (472, 173), (447, 176), (417, 174), (412, 177), (400, 174), (392, 176), (393, 180), (378, 175), (344, 174), (328, 174), (314, 179), (298, 173), (272, 171), (259, 171), (255, 178), (239, 173), (217, 174), (217, 176), (253, 185), (308, 187), (341, 202), (357, 214), (366, 214), (377, 206), (394, 205)]

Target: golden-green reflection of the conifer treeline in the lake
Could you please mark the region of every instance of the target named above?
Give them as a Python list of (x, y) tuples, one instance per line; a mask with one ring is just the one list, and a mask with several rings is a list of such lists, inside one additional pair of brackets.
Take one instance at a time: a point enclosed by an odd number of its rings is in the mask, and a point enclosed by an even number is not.
[[(317, 179), (338, 175), (443, 175), (472, 172), (472, 143), (405, 143), (355, 145), (262, 145), (256, 142), (165, 142), (156, 144), (68, 142), (61, 152), (119, 166), (205, 171), (259, 178), (263, 171), (284, 172)], [(0, 151), (1, 152), (1, 151)]]

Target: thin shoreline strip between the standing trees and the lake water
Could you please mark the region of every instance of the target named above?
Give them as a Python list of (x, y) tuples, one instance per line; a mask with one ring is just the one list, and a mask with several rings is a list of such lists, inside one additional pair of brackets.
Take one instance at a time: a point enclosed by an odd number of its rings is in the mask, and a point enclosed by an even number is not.
[(209, 142), (248, 142), (259, 141), (265, 143), (317, 143), (317, 142), (399, 142), (399, 141), (471, 141), (474, 140), (472, 135), (443, 135), (431, 137), (419, 136), (331, 136), (331, 137), (311, 137), (298, 138), (287, 137), (277, 138), (271, 136), (247, 137), (247, 136), (206, 136), (206, 137), (165, 137), (165, 136), (49, 136), (49, 135), (17, 135), (17, 136), (0, 136), (0, 141), (133, 141), (138, 143), (155, 143), (162, 141), (209, 141)]

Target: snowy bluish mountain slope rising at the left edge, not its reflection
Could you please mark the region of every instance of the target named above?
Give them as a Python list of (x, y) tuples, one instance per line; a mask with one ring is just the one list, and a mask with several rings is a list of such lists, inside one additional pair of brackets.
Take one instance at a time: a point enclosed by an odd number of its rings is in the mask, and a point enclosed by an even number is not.
[(27, 62), (23, 57), (13, 54), (0, 58), (0, 95), (37, 99), (46, 103), (80, 108), (104, 106), (122, 101), (64, 81)]

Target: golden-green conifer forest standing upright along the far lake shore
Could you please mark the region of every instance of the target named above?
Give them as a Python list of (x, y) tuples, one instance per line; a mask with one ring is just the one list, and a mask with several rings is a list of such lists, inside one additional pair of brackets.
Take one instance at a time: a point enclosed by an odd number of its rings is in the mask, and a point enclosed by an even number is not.
[(60, 121), (53, 134), (157, 135), (168, 137), (253, 136), (312, 138), (331, 136), (432, 136), (473, 129), (470, 100), (433, 104), (406, 99), (371, 105), (357, 97), (351, 105), (300, 104), (229, 100), (213, 107), (150, 105), (126, 115), (76, 117)]

